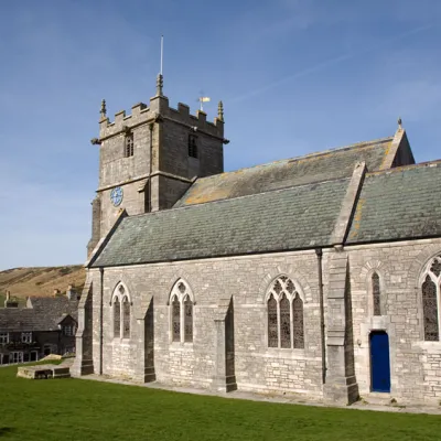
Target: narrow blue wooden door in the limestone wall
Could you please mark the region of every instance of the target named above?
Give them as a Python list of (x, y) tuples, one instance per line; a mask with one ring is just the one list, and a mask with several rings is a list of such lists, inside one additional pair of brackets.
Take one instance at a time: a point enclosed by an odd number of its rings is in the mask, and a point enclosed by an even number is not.
[(370, 333), (370, 375), (374, 392), (390, 392), (389, 336)]

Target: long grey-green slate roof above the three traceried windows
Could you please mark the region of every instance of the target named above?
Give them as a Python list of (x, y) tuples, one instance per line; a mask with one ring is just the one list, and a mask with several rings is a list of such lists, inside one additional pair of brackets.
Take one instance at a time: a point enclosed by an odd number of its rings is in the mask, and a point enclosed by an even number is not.
[(93, 267), (326, 246), (348, 179), (122, 219)]

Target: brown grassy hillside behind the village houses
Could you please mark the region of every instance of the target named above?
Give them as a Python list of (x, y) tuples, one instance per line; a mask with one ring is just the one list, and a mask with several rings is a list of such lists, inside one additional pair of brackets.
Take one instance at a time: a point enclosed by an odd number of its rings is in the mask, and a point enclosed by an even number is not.
[(25, 299), (28, 295), (53, 295), (54, 289), (66, 292), (68, 284), (82, 289), (85, 279), (86, 271), (82, 265), (13, 268), (0, 271), (0, 308), (3, 305), (7, 290), (19, 299)]

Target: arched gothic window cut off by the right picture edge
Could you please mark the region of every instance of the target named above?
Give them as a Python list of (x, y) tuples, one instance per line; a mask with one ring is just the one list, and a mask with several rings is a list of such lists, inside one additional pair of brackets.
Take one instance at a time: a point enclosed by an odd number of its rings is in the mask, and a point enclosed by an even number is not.
[(438, 255), (428, 262), (421, 278), (424, 340), (428, 342), (440, 340), (440, 284), (441, 255)]

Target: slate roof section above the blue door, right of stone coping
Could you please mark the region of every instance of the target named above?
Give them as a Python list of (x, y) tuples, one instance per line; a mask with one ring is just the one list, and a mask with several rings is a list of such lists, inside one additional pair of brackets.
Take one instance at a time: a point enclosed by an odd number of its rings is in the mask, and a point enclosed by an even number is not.
[(441, 236), (441, 162), (369, 173), (347, 244)]

